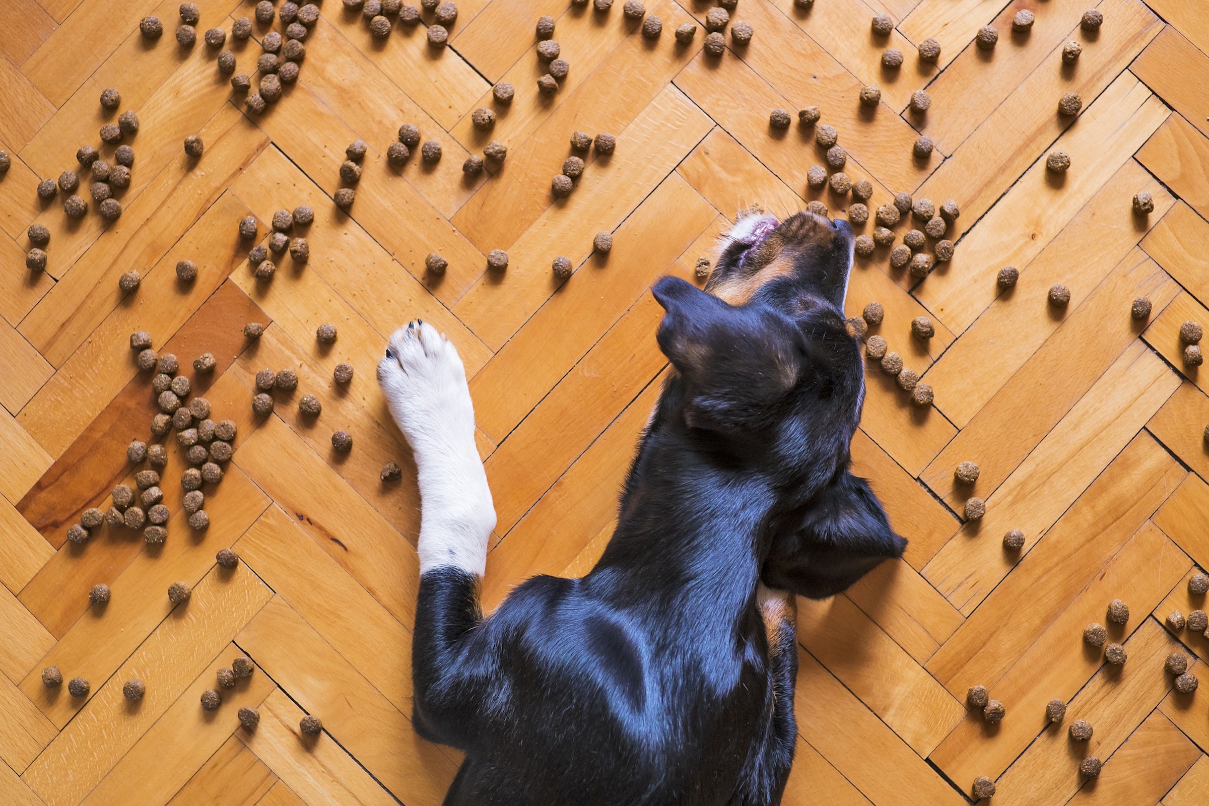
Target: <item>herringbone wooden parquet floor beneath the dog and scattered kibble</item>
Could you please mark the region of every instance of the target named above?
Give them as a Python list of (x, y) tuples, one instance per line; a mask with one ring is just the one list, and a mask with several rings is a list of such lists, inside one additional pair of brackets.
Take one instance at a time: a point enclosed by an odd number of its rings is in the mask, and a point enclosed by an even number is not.
[[(386, 336), (430, 320), (472, 376), (499, 516), (488, 603), (534, 573), (585, 572), (665, 370), (652, 280), (693, 278), (740, 208), (848, 207), (808, 189), (823, 162), (812, 132), (796, 118), (769, 128), (773, 109), (817, 105), (848, 150), (845, 172), (870, 180), (870, 210), (906, 191), (955, 199), (961, 215), (945, 236), (955, 256), (921, 282), (885, 247), (854, 268), (849, 315), (884, 306), (870, 335), (936, 405), (913, 406), (870, 361), (852, 453), (910, 547), (846, 595), (800, 603), (786, 802), (962, 804), (978, 776), (997, 782), (996, 804), (1209, 802), (1207, 692), (1176, 694), (1163, 669), (1181, 644), (1193, 674), (1209, 660), (1209, 640), (1164, 626), (1172, 610), (1204, 607), (1187, 580), (1209, 566), (1209, 376), (1184, 365), (1178, 335), (1186, 320), (1209, 325), (1203, 2), (740, 0), (734, 19), (754, 36), (740, 46), (728, 34), (713, 58), (705, 30), (673, 37), (704, 23), (693, 0), (648, 0), (656, 40), (621, 0), (607, 13), (459, 0), (444, 51), (427, 45), (428, 11), (375, 40), (359, 12), (326, 0), (297, 83), (261, 116), (201, 42), (253, 4), (198, 0), (192, 48), (174, 41), (177, 5), (4, 0), (0, 12), (0, 149), (12, 157), (0, 178), (0, 801), (439, 804), (458, 755), (409, 720), (418, 493), (374, 379)], [(1094, 34), (1080, 29), (1093, 5)], [(1019, 8), (1036, 15), (1026, 34), (1012, 33)], [(897, 23), (885, 37), (870, 34), (881, 12)], [(138, 31), (149, 13), (164, 24), (155, 42)], [(536, 85), (542, 15), (571, 63), (553, 97)], [(973, 45), (988, 24), (1000, 33), (989, 52)], [(254, 24), (253, 36), (268, 30)], [(916, 56), (927, 37), (941, 44), (936, 64)], [(1069, 40), (1083, 47), (1074, 65)], [(254, 74), (256, 41), (229, 47)], [(906, 54), (896, 71), (880, 66), (887, 47)], [(492, 100), (499, 81), (516, 87), (510, 105)], [(863, 85), (880, 87), (875, 109), (861, 106)], [(141, 122), (127, 138), (125, 211), (108, 226), (35, 193), (76, 167), (82, 144), (112, 158), (98, 138), (117, 115), (98, 103), (106, 87)], [(931, 109), (906, 111), (921, 87)], [(1082, 97), (1077, 117), (1057, 112), (1068, 92)], [(498, 115), (490, 133), (472, 124), (479, 106)], [(439, 163), (387, 164), (401, 123), (440, 143)], [(617, 151), (582, 155), (571, 196), (551, 199), (574, 131), (613, 133)], [(920, 132), (936, 145), (926, 160), (912, 156)], [(204, 140), (201, 160), (181, 150), (190, 134)], [(346, 215), (332, 196), (357, 138), (368, 153)], [(507, 160), (464, 178), (490, 139)], [(1065, 175), (1047, 173), (1052, 150), (1070, 155)], [(1132, 213), (1140, 191), (1149, 216)], [(248, 251), (276, 210), (301, 204), (316, 211), (310, 262), (283, 257), (258, 282)], [(237, 234), (245, 215), (260, 221), (256, 240)], [(921, 226), (907, 219), (896, 243)], [(24, 267), (31, 222), (51, 232), (45, 273)], [(613, 233), (607, 256), (592, 249), (600, 231)], [(503, 274), (486, 269), (493, 249), (509, 253)], [(426, 274), (429, 253), (449, 261), (444, 277)], [(556, 256), (575, 269), (565, 283)], [(178, 282), (180, 260), (196, 262), (192, 283)], [(1019, 283), (1001, 292), (1007, 265)], [(129, 269), (141, 285), (123, 295)], [(1070, 289), (1064, 309), (1046, 301), (1055, 283)], [(1152, 301), (1145, 321), (1130, 318), (1138, 296)], [(920, 315), (930, 341), (912, 336)], [(259, 340), (243, 335), (250, 321), (266, 325)], [(316, 341), (324, 323), (339, 329), (331, 346)], [(185, 451), (169, 436), (162, 547), (108, 526), (75, 545), (66, 532), (83, 510), (108, 509), (114, 486), (146, 466), (126, 460), (157, 410), (128, 347), (137, 330), (179, 358), (214, 419), (237, 423), (235, 457), (204, 488), (207, 532), (186, 523)], [(204, 352), (212, 373), (192, 370)], [(332, 381), (342, 361), (355, 369), (347, 387)], [(259, 417), (265, 367), (299, 383)], [(299, 414), (303, 394), (322, 401), (318, 418)], [(347, 454), (331, 447), (339, 429), (353, 435)], [(954, 483), (964, 460), (980, 466), (973, 487)], [(380, 480), (388, 462), (401, 481)], [(987, 514), (964, 523), (970, 495)], [(1018, 553), (1001, 545), (1010, 529), (1024, 533)], [(215, 564), (224, 547), (239, 555), (235, 570)], [(166, 593), (175, 581), (193, 586), (178, 607)], [(99, 582), (111, 601), (89, 605)], [(1130, 610), (1109, 631), (1123, 668), (1082, 642), (1115, 598)], [(255, 672), (204, 712), (202, 691), (241, 654)], [(48, 666), (86, 678), (89, 696), (45, 688)], [(131, 679), (146, 686), (138, 703), (122, 695)], [(1006, 706), (999, 725), (967, 709), (971, 685)], [(1047, 727), (1052, 698), (1066, 720)], [(241, 707), (259, 708), (254, 731), (239, 727)], [(323, 720), (317, 738), (299, 730), (305, 713)], [(1092, 723), (1091, 742), (1068, 737), (1075, 719)], [(1104, 761), (1095, 782), (1078, 773), (1086, 755)]]

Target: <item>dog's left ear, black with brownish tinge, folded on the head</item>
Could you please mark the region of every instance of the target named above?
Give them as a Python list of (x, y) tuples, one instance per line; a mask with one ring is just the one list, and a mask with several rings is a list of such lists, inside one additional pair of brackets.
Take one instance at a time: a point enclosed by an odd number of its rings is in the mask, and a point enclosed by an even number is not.
[(666, 312), (656, 341), (684, 379), (689, 425), (752, 427), (802, 376), (804, 340), (775, 312), (735, 307), (675, 277), (652, 291)]

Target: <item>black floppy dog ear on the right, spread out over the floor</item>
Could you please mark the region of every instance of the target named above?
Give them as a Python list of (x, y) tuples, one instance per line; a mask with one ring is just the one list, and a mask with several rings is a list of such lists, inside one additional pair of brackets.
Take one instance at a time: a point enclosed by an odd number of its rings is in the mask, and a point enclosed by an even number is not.
[(762, 576), (769, 587), (822, 599), (881, 561), (902, 557), (906, 547), (868, 482), (845, 470), (810, 501), (796, 528), (773, 538)]

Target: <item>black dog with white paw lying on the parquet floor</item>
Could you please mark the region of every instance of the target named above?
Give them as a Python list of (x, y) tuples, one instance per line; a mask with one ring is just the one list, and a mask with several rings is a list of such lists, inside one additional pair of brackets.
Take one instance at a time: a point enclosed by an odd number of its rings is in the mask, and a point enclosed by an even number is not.
[(600, 562), (528, 580), (490, 619), (494, 512), (461, 361), (428, 325), (391, 340), (378, 379), (423, 499), (413, 720), (465, 752), (446, 804), (781, 800), (792, 593), (843, 591), (906, 540), (848, 469), (864, 396), (851, 227), (748, 216), (728, 238), (708, 294), (654, 286), (675, 372)]

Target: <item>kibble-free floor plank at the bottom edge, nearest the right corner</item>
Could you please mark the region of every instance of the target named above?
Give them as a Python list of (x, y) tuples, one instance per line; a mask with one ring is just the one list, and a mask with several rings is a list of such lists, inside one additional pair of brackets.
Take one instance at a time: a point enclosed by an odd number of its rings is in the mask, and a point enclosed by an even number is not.
[(1170, 719), (1155, 712), (1109, 758), (1100, 778), (1069, 802), (1156, 804), (1202, 755)]

